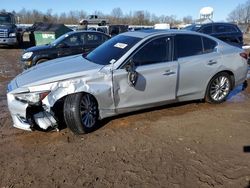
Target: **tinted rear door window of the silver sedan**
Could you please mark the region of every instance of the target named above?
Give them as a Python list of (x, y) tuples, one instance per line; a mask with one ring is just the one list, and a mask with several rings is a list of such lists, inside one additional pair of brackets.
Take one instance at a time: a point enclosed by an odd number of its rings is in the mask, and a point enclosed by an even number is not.
[(201, 36), (198, 35), (177, 35), (175, 37), (175, 46), (178, 58), (203, 53)]

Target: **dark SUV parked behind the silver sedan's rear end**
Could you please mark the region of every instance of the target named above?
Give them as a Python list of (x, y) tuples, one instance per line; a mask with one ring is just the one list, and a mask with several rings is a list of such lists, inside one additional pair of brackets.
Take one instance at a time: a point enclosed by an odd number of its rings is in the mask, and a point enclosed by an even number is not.
[(243, 46), (243, 33), (237, 25), (232, 23), (193, 24), (184, 29), (211, 35), (234, 46)]

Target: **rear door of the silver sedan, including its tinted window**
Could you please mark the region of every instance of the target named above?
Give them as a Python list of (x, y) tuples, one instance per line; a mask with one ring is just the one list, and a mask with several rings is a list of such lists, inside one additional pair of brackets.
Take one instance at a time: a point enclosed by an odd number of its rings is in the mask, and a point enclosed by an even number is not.
[(209, 79), (220, 66), (222, 57), (216, 46), (214, 40), (204, 36), (175, 36), (175, 52), (179, 63), (177, 97), (189, 100), (190, 97), (195, 99), (204, 94)]

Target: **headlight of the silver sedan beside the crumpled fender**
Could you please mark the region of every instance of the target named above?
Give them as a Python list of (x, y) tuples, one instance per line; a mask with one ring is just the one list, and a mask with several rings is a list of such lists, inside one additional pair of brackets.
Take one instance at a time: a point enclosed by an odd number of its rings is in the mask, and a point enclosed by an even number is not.
[(17, 100), (21, 101), (21, 102), (27, 102), (29, 104), (38, 104), (48, 94), (49, 94), (49, 91), (31, 92), (31, 93), (20, 93), (20, 94), (16, 94), (15, 98)]

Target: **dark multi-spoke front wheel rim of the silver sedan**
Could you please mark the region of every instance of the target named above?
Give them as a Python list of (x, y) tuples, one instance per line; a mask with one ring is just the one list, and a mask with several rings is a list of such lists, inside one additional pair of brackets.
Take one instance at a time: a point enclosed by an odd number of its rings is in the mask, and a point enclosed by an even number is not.
[(80, 104), (80, 115), (82, 123), (91, 128), (96, 123), (97, 118), (97, 106), (94, 99), (90, 95), (84, 95)]

